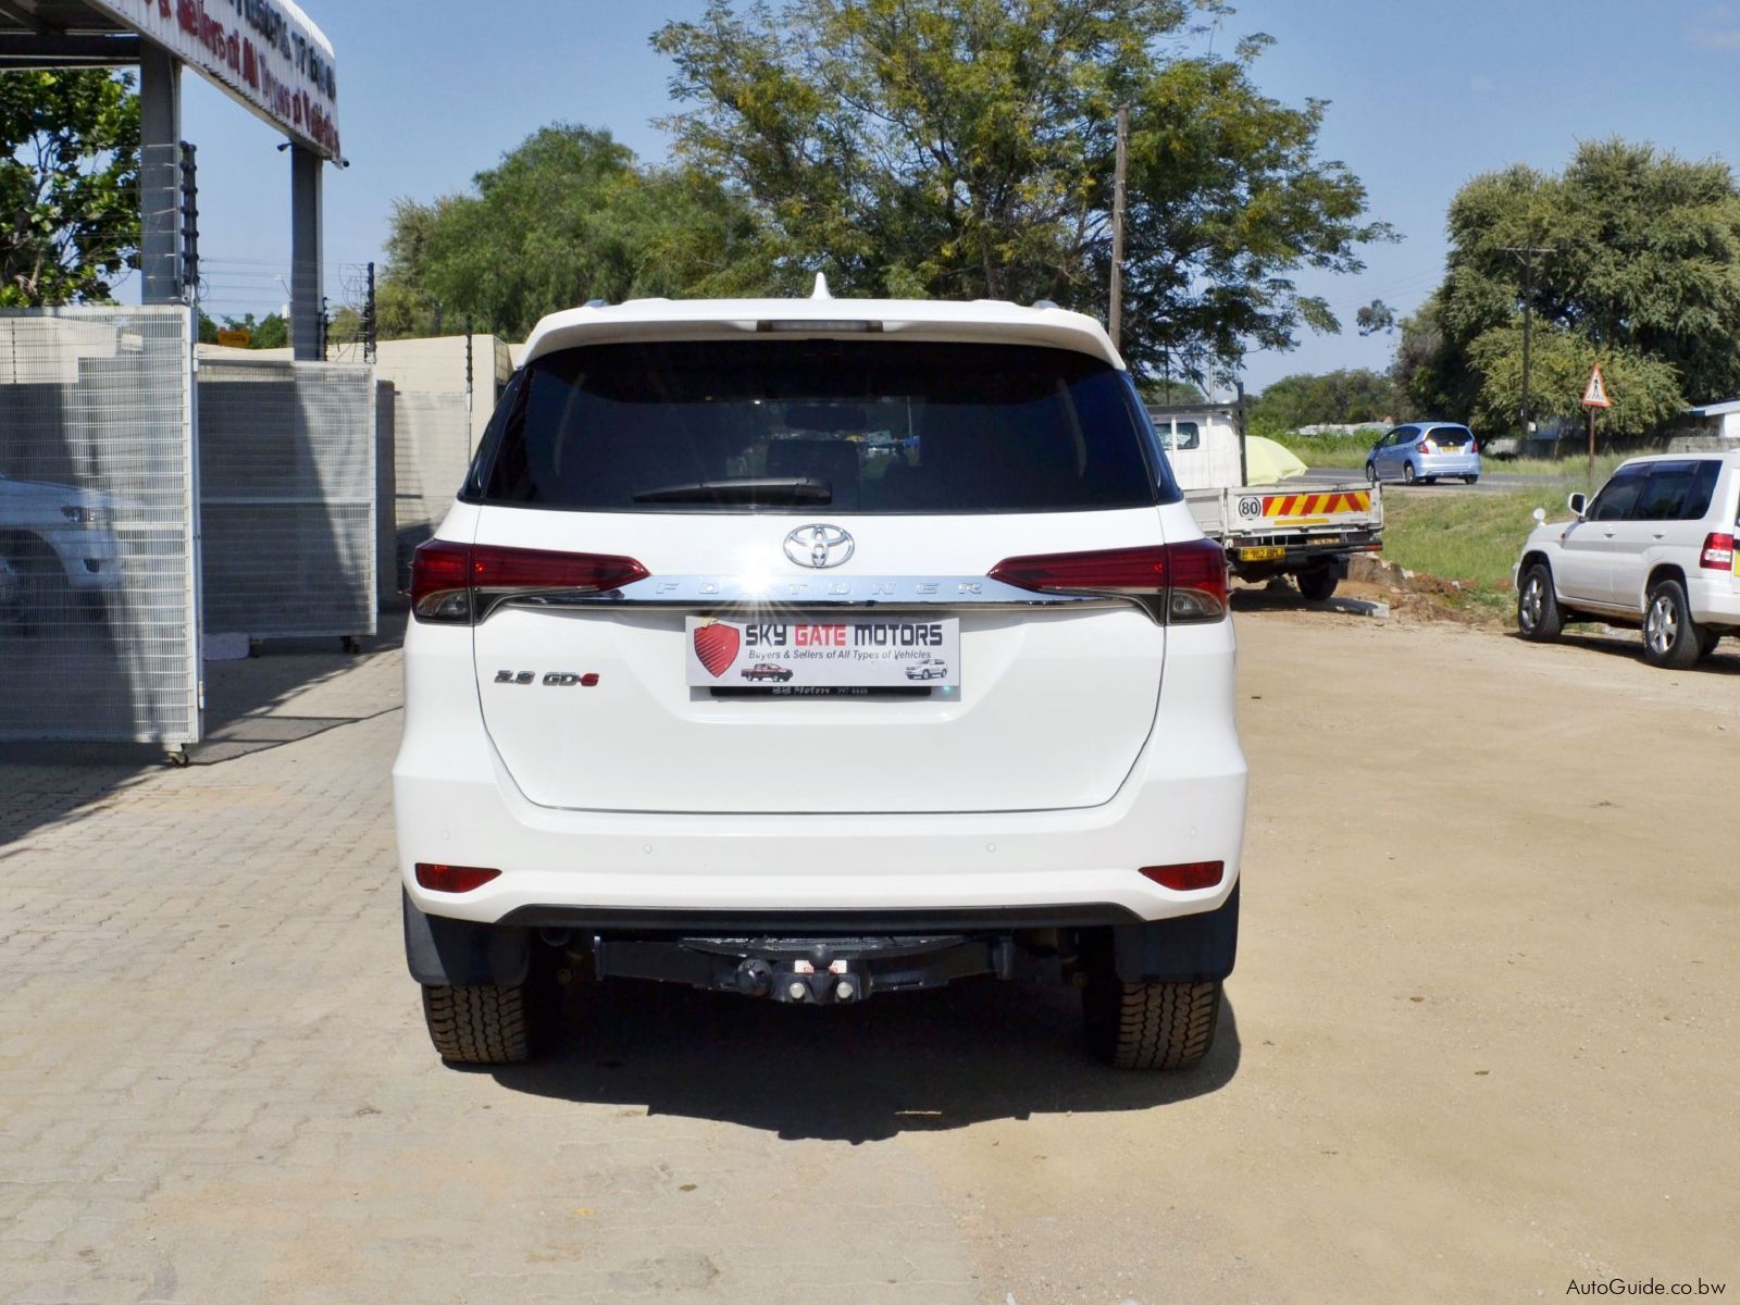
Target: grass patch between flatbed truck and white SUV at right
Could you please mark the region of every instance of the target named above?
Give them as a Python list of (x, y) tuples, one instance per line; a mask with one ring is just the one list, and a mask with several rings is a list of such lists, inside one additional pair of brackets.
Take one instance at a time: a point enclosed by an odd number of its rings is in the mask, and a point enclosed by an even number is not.
[(1531, 513), (1545, 508), (1549, 520), (1566, 520), (1564, 494), (1554, 482), (1510, 494), (1394, 494), (1383, 499), (1383, 557), (1507, 602), (1510, 567), (1535, 529)]

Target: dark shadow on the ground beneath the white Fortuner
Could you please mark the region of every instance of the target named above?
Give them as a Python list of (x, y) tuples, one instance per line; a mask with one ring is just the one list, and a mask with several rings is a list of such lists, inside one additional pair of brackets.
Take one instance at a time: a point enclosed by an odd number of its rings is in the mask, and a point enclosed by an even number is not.
[(1218, 1091), (1239, 1070), (1230, 1000), (1215, 1047), (1185, 1074), (1094, 1061), (1079, 1011), (1074, 992), (997, 980), (851, 1007), (614, 980), (569, 1004), (543, 1060), (487, 1072), (532, 1096), (861, 1143), (1035, 1114), (1148, 1110)]

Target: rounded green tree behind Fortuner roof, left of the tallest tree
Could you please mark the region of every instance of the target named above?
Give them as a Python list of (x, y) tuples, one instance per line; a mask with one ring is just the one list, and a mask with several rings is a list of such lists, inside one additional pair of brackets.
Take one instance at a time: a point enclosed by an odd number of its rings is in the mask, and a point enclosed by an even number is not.
[(607, 130), (532, 134), (475, 190), (393, 207), (383, 338), (524, 338), (593, 298), (764, 292), (773, 256), (750, 207), (691, 169), (647, 169)]

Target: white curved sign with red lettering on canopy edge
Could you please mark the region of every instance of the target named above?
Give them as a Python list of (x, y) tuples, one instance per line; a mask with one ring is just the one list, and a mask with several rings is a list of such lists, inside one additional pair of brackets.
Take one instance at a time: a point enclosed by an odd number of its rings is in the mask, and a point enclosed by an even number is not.
[(85, 0), (172, 50), (310, 150), (343, 158), (338, 70), (291, 0)]

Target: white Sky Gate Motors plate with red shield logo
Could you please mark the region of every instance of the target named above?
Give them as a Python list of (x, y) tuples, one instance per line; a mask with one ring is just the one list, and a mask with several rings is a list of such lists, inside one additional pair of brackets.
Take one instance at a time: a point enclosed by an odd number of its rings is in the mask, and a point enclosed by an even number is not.
[(960, 619), (684, 619), (693, 689), (957, 689)]

